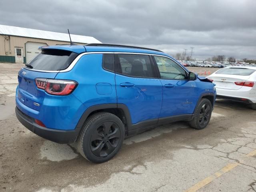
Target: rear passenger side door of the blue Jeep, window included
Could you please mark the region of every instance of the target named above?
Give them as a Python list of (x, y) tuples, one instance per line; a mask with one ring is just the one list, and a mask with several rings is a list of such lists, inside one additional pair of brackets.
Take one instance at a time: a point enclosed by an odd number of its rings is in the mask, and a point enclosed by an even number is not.
[(132, 124), (156, 124), (162, 106), (162, 84), (146, 54), (115, 54), (117, 102), (125, 104)]

